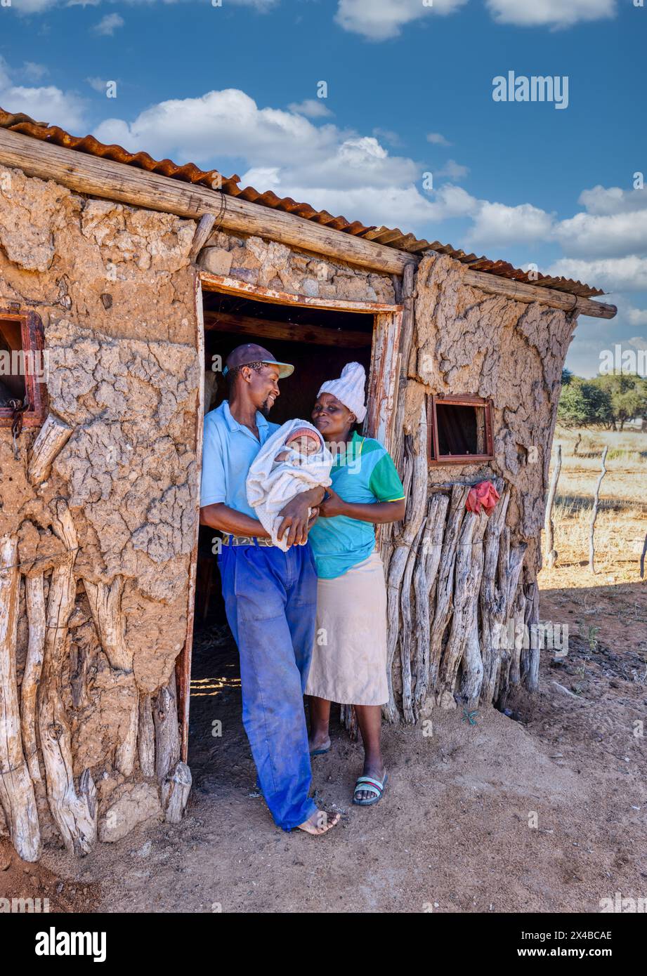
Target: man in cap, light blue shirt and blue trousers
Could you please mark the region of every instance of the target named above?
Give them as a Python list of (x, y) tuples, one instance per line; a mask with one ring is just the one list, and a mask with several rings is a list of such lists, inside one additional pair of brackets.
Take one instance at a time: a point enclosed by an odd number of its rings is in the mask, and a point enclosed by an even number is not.
[(265, 419), (279, 395), (278, 381), (293, 372), (294, 366), (253, 343), (227, 357), (229, 398), (205, 417), (200, 521), (225, 533), (222, 596), (240, 654), (243, 724), (267, 806), (283, 830), (325, 834), (339, 814), (329, 820), (308, 796), (303, 713), (317, 592), (308, 508), (319, 505), (324, 490), (303, 492), (282, 510), (278, 537), (287, 532), (290, 545), (284, 552), (272, 544), (245, 489), (252, 462), (278, 428)]

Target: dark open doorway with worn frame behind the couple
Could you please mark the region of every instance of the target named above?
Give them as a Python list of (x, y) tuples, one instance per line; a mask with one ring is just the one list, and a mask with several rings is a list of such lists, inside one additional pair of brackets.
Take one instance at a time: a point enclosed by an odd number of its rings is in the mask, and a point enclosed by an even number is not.
[[(231, 349), (258, 343), (278, 360), (295, 366), (293, 375), (280, 382), (280, 395), (268, 417), (271, 422), (309, 421), (321, 384), (338, 377), (345, 363), (356, 361), (368, 377), (362, 432), (388, 446), (399, 365), (400, 305), (309, 300), (206, 274), (201, 275), (201, 286), (196, 299), (204, 326), (204, 414), (226, 398), (222, 366)], [(202, 424), (201, 417), (200, 436)], [(226, 624), (216, 563), (218, 536), (213, 529), (199, 527), (189, 590), (190, 628), (177, 669), (182, 758), (187, 761), (189, 752), (190, 702), (190, 761), (198, 772), (198, 785), (200, 770), (217, 766), (222, 722), (230, 734), (232, 727), (236, 729), (236, 738), (244, 735), (238, 654)]]

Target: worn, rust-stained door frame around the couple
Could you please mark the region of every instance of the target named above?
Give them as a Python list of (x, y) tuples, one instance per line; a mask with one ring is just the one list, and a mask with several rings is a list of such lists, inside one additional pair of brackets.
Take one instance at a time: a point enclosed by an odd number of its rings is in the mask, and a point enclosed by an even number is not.
[[(323, 308), (333, 311), (350, 311), (362, 314), (373, 313), (373, 341), (371, 344), (371, 367), (367, 390), (367, 413), (363, 433), (382, 441), (387, 450), (392, 446), (392, 418), (397, 400), (397, 383), (400, 372), (398, 352), (402, 328), (404, 305), (381, 302), (351, 302), (345, 299), (318, 299), (306, 295), (292, 295), (288, 292), (251, 285), (226, 275), (196, 271), (193, 282), (195, 321), (197, 325), (196, 352), (199, 357), (199, 389), (195, 423), (195, 462), (196, 478), (200, 483), (202, 474), (202, 429), (204, 424), (204, 379), (205, 379), (205, 336), (203, 292), (221, 292), (238, 295), (255, 302), (270, 302), (275, 305), (298, 305), (304, 308)], [(182, 761), (188, 756), (188, 712), (190, 702), (191, 652), (193, 647), (193, 616), (195, 612), (195, 587), (198, 563), (198, 531), (200, 522), (200, 492), (195, 500), (195, 530), (193, 549), (189, 567), (188, 603), (186, 608), (186, 635), (184, 646), (176, 661), (176, 680), (178, 686), (178, 717), (181, 725)]]

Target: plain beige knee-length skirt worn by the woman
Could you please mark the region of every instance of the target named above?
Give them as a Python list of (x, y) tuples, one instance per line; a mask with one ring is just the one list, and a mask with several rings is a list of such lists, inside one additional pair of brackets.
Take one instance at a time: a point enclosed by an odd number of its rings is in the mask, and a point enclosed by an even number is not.
[(306, 695), (342, 705), (384, 705), (386, 586), (378, 552), (317, 584), (317, 630)]

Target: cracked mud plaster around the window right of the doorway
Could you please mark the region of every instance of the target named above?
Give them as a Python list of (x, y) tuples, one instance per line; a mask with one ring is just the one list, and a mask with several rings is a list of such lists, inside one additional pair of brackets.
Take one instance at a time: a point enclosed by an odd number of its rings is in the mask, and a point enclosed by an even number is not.
[(425, 393), (492, 400), (495, 459), (429, 469), (431, 484), (501, 475), (511, 486), (507, 524), (528, 543), (524, 579), (541, 565), (540, 535), (561, 371), (577, 319), (546, 305), (513, 302), (463, 283), (465, 265), (427, 255), (416, 283), (405, 429)]

